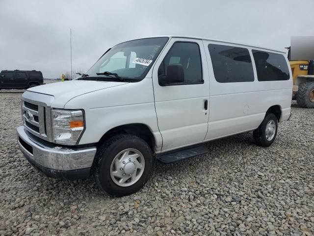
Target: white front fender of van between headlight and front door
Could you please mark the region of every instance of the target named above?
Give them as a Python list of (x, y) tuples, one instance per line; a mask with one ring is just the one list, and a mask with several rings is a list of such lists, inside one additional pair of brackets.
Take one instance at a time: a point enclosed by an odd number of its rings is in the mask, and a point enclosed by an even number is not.
[(141, 123), (149, 127), (155, 137), (157, 150), (161, 149), (162, 138), (157, 126), (151, 78), (77, 96), (64, 108), (85, 111), (86, 130), (79, 144), (97, 143), (114, 127)]

